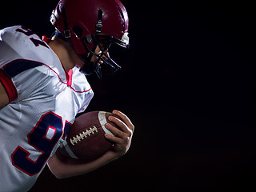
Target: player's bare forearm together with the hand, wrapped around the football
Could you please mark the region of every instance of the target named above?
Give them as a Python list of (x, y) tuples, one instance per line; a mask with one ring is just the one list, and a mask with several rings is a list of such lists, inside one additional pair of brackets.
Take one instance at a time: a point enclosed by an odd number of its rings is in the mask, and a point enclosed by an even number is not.
[(122, 112), (116, 111), (115, 114), (122, 118), (122, 121), (118, 120), (118, 118), (113, 118), (110, 121), (114, 122), (118, 128), (110, 123), (106, 123), (106, 128), (114, 134), (114, 136), (110, 134), (105, 135), (110, 142), (114, 143), (112, 150), (107, 151), (106, 154), (103, 154), (100, 158), (90, 162), (63, 157), (57, 150), (54, 156), (48, 161), (48, 166), (50, 167), (51, 172), (57, 178), (69, 178), (79, 174), (86, 174), (121, 157), (123, 154), (126, 154), (126, 151), (130, 148), (134, 125), (125, 114), (122, 114)]

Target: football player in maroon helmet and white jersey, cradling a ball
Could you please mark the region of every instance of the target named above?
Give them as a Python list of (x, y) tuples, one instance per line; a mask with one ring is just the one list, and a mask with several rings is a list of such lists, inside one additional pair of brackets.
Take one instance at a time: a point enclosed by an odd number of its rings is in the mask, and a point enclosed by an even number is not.
[(26, 26), (0, 30), (0, 191), (27, 191), (42, 169), (57, 178), (85, 174), (119, 158), (130, 147), (134, 126), (106, 124), (112, 150), (92, 162), (56, 155), (78, 113), (94, 93), (86, 75), (99, 78), (120, 70), (110, 58), (112, 44), (127, 48), (128, 16), (119, 0), (61, 0), (50, 22), (50, 39)]

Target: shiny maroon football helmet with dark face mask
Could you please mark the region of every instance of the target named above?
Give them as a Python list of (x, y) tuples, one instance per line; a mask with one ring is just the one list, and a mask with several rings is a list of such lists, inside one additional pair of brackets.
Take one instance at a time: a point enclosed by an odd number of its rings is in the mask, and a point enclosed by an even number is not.
[[(104, 78), (104, 72), (114, 74), (121, 69), (106, 54), (111, 44), (129, 46), (128, 14), (119, 0), (61, 0), (50, 22), (57, 30), (56, 35), (69, 42), (84, 60), (82, 73), (95, 72), (99, 78)], [(97, 46), (101, 54), (94, 53)], [(93, 55), (98, 57), (95, 63), (90, 62)]]

